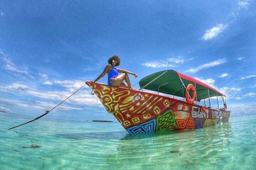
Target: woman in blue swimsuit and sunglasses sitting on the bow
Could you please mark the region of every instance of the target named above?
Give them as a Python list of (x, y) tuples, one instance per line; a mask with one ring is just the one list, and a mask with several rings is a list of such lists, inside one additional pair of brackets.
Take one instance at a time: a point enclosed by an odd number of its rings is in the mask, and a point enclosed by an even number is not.
[[(115, 68), (115, 66), (120, 65), (120, 62), (121, 62), (121, 60), (118, 56), (114, 55), (113, 57), (110, 57), (108, 59), (109, 64), (105, 67), (105, 69), (101, 73), (101, 75), (99, 75), (97, 79), (95, 79), (94, 81), (91, 81), (91, 82), (93, 82), (93, 83), (97, 82), (99, 79), (101, 79), (102, 77), (104, 77), (107, 74), (108, 75), (107, 85), (134, 89), (131, 85), (128, 74), (132, 74), (135, 78), (137, 78), (138, 75), (135, 73), (132, 73), (130, 71), (127, 71), (127, 70)], [(118, 74), (118, 73), (121, 73), (121, 74)], [(123, 83), (123, 80), (125, 80), (125, 82), (127, 84)]]

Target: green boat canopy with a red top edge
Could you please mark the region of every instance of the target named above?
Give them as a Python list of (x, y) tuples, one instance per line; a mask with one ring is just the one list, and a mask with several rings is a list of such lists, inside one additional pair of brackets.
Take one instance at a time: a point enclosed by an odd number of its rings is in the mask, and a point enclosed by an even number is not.
[[(182, 81), (181, 81), (182, 80)], [(225, 96), (209, 85), (194, 79), (190, 76), (181, 74), (175, 70), (164, 70), (144, 77), (139, 81), (139, 86), (144, 89), (158, 91), (174, 96), (185, 97), (185, 88), (189, 84), (193, 84), (196, 88), (197, 101), (213, 96)], [(209, 89), (209, 93), (208, 93)], [(190, 95), (191, 96), (191, 95)], [(226, 97), (226, 96), (225, 96)]]

